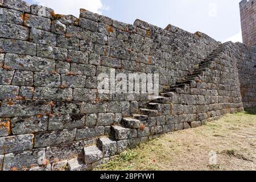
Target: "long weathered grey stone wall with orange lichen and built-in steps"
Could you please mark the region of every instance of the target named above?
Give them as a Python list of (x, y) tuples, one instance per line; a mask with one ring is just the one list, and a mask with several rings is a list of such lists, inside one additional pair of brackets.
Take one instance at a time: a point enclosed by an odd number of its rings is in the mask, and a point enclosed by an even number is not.
[[(242, 98), (255, 96), (255, 49), (83, 9), (76, 18), (20, 0), (0, 6), (0, 170), (92, 169), (160, 134), (241, 111)], [(98, 92), (97, 76), (110, 69), (159, 73), (160, 96)]]

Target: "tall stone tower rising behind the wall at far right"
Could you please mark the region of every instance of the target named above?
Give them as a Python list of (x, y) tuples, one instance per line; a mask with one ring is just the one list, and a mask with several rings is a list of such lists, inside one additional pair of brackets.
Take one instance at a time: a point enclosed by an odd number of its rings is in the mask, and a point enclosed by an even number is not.
[(240, 2), (240, 16), (243, 43), (256, 46), (256, 1), (242, 0)]

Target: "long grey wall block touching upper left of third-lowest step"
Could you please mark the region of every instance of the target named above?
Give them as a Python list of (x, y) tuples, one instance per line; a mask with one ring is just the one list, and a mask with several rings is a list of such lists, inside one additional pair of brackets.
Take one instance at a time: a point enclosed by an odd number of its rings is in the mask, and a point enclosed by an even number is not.
[(76, 140), (100, 137), (104, 135), (104, 133), (105, 133), (104, 126), (85, 127), (83, 129), (77, 129)]

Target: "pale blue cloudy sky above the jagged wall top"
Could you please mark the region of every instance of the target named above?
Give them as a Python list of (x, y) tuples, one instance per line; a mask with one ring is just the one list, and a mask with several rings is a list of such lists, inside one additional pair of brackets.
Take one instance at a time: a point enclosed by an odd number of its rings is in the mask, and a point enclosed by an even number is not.
[(204, 32), (225, 42), (241, 41), (240, 0), (26, 0), (52, 7), (59, 14), (79, 16), (79, 8), (133, 24), (141, 19), (165, 28)]

